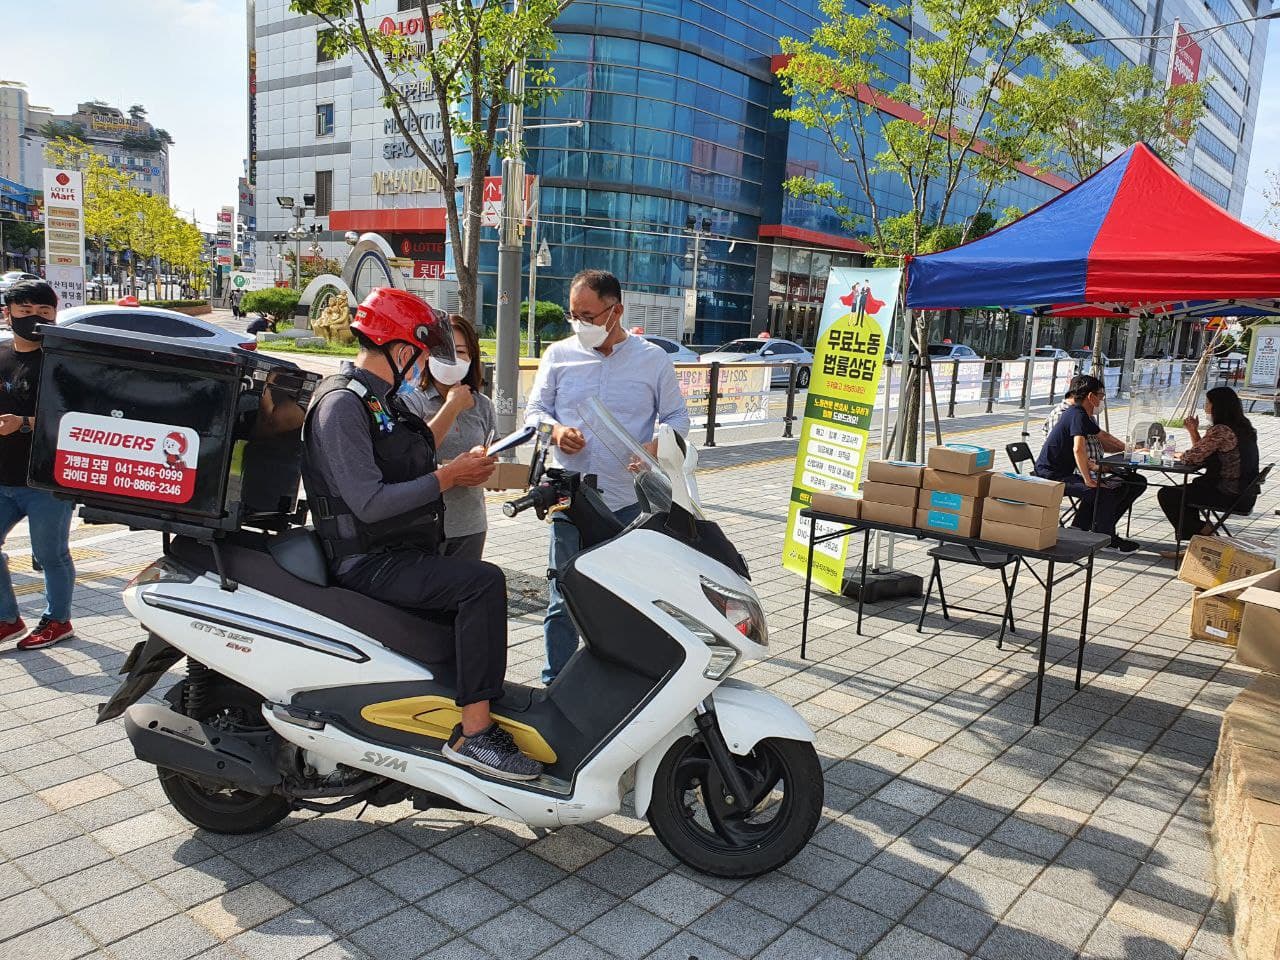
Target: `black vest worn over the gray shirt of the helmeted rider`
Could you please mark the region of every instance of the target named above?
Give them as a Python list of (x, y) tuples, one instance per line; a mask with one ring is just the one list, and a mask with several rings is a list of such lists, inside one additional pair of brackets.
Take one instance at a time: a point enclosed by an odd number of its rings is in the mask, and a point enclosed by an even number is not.
[[(374, 462), (383, 475), (383, 483), (401, 484), (426, 476), (436, 468), (435, 439), (431, 429), (411, 413), (393, 396), (389, 401), (379, 397), (379, 380), (362, 370), (325, 378), (316, 388), (307, 408), (302, 430), (306, 436), (311, 417), (329, 394), (351, 390), (360, 397), (369, 415), (369, 436), (374, 447)], [(332, 403), (333, 401), (330, 401)], [(330, 490), (324, 475), (312, 462), (310, 444), (302, 445), (302, 483), (307, 490), (307, 504), (315, 522), (316, 534), (324, 541), (330, 559), (383, 553), (393, 549), (420, 549), (439, 553), (444, 540), (444, 500), (436, 498), (422, 507), (375, 524), (360, 520), (340, 490)], [(325, 451), (326, 457), (340, 457), (342, 451)], [(339, 532), (339, 517), (348, 517), (356, 529), (355, 536)]]

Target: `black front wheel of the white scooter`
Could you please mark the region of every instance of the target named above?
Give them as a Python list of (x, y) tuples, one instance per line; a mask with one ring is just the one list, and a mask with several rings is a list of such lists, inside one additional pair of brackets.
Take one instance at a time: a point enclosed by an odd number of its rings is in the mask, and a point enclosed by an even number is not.
[[(745, 803), (727, 801), (701, 740), (685, 737), (654, 776), (649, 823), (677, 859), (713, 877), (758, 877), (799, 854), (822, 817), (822, 765), (813, 744), (762, 740), (732, 756)], [(737, 800), (737, 797), (735, 797)]]

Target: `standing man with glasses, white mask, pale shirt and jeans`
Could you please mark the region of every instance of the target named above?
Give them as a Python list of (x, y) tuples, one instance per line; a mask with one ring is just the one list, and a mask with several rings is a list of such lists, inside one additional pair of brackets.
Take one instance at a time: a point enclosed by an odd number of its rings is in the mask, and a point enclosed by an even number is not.
[[(525, 421), (554, 424), (552, 443), (567, 468), (595, 474), (600, 495), (613, 515), (630, 524), (640, 515), (628, 465), (600, 440), (582, 431), (579, 407), (598, 397), (637, 443), (650, 445), (657, 424), (689, 433), (689, 412), (680, 394), (667, 352), (622, 325), (622, 285), (605, 270), (584, 270), (568, 294), (573, 337), (553, 343), (543, 355), (529, 394)], [(552, 521), (550, 602), (543, 634), (547, 663), (543, 682), (550, 684), (577, 649), (577, 631), (559, 593), (557, 573), (581, 549), (577, 529), (562, 517)]]

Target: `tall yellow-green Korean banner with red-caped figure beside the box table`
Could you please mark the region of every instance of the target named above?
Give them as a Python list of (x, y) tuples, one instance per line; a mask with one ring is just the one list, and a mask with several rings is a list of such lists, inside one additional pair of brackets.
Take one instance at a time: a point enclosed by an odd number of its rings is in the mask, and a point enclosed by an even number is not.
[[(901, 270), (831, 269), (782, 547), (782, 566), (796, 573), (804, 573), (809, 562), (809, 524), (800, 511), (814, 493), (850, 494), (861, 480), (901, 279)], [(841, 526), (819, 524), (818, 535)], [(847, 544), (847, 538), (819, 544), (815, 582), (840, 593)]]

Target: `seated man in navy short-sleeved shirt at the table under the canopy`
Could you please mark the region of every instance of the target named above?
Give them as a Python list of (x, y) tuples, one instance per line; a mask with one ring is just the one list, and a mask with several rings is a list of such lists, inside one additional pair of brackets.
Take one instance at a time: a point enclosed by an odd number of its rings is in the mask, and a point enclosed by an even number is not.
[(1124, 442), (1098, 426), (1106, 390), (1096, 376), (1076, 376), (1068, 390), (1071, 406), (1053, 424), (1039, 457), (1036, 475), (1061, 480), (1066, 493), (1080, 502), (1071, 526), (1110, 534), (1111, 547), (1124, 553), (1138, 549), (1135, 540), (1116, 534), (1116, 522), (1147, 489), (1147, 480), (1133, 475), (1100, 474), (1098, 461), (1124, 449)]

